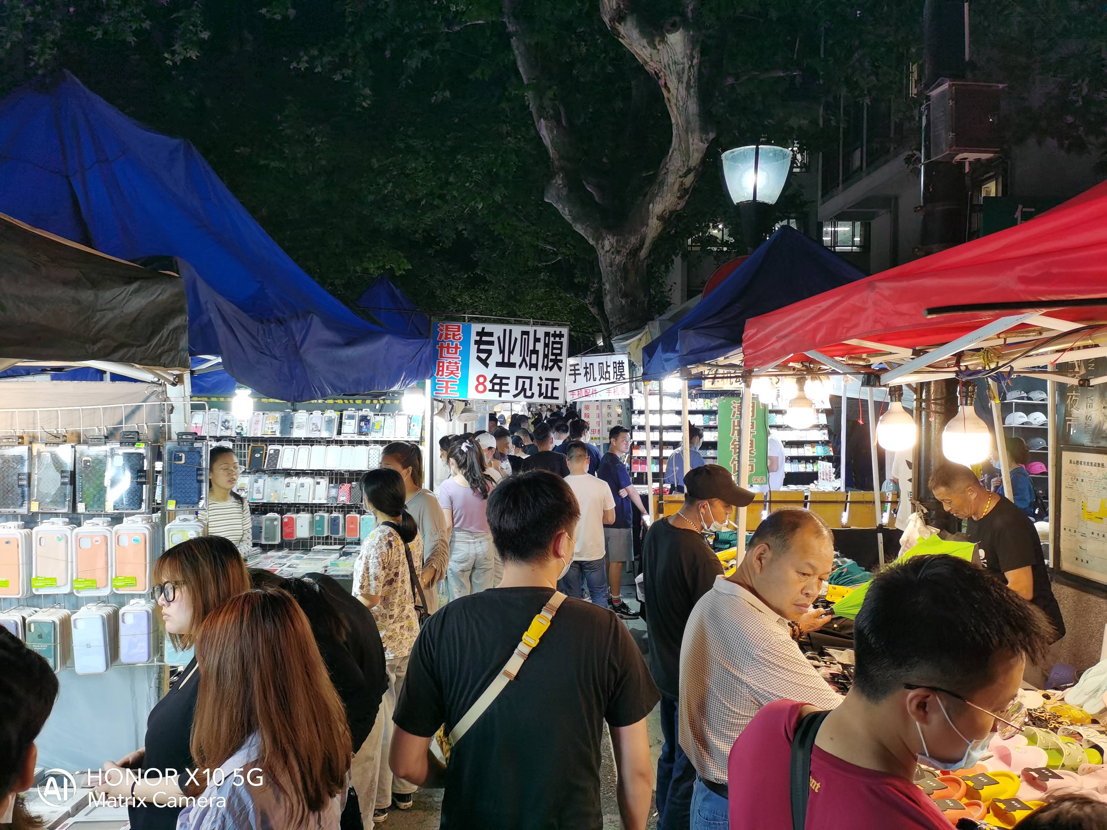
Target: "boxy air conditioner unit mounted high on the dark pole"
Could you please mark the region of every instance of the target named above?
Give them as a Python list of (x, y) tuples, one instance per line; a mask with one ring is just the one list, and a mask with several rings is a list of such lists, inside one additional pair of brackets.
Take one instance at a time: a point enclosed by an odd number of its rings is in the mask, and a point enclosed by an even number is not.
[(1003, 84), (942, 81), (930, 91), (928, 162), (974, 162), (1003, 147), (1000, 91)]

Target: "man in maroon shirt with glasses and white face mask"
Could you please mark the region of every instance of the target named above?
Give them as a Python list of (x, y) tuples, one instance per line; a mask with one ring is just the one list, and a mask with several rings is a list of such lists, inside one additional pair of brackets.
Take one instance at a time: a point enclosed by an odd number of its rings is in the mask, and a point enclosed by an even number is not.
[[(1023, 667), (1051, 636), (1041, 610), (961, 559), (918, 557), (877, 577), (855, 626), (853, 687), (815, 738), (806, 826), (948, 830), (913, 784), (915, 762), (972, 766), (993, 732), (1021, 726)], [(735, 830), (792, 830), (792, 739), (813, 709), (770, 703), (735, 741)]]

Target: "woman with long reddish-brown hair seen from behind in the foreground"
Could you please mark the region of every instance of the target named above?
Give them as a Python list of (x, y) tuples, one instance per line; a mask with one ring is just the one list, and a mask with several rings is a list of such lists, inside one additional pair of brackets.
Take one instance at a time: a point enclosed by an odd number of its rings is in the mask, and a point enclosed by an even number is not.
[(268, 588), (232, 596), (200, 626), (196, 660), (199, 798), (178, 830), (338, 830), (350, 729), (296, 600)]

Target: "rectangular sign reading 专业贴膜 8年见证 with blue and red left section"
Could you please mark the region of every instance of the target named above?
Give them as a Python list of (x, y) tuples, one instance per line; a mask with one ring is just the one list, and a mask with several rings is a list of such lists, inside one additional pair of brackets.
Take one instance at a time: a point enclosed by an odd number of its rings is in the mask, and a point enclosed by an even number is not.
[(434, 397), (565, 402), (568, 329), (435, 323), (434, 339)]

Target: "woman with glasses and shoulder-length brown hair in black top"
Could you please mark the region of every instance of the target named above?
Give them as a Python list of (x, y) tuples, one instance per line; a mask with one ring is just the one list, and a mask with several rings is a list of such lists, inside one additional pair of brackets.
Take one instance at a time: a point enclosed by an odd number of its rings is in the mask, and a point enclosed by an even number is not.
[[(250, 578), (238, 548), (221, 537), (189, 539), (169, 548), (154, 564), (152, 593), (162, 609), (165, 631), (177, 649), (194, 646), (200, 625), (211, 612), (249, 589)], [(199, 685), (193, 657), (169, 685), (165, 697), (151, 709), (145, 745), (118, 761), (104, 764), (104, 774), (121, 768), (143, 772), (142, 782), (134, 786), (126, 781), (125, 774), (114, 772), (102, 780), (122, 778), (122, 784), (96, 788), (97, 793), (110, 798), (135, 799), (128, 808), (133, 830), (173, 830), (177, 826), (180, 807), (155, 807), (153, 802), (169, 805), (182, 799), (189, 770), (196, 768), (189, 739)], [(228, 698), (235, 697), (226, 688), (223, 693)], [(143, 806), (134, 806), (137, 803)]]

